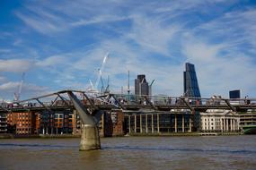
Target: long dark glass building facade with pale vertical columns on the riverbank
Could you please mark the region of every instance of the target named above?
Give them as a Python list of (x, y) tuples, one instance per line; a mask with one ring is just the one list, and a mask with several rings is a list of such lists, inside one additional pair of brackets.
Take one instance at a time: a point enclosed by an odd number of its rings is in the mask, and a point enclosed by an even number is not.
[(126, 131), (129, 133), (192, 132), (190, 112), (152, 113), (126, 115)]

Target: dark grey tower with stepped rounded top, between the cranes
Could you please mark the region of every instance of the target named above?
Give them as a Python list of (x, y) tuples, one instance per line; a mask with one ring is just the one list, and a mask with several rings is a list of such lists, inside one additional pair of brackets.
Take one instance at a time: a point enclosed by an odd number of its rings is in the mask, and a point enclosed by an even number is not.
[(135, 80), (135, 95), (148, 95), (148, 82), (144, 74), (137, 75)]

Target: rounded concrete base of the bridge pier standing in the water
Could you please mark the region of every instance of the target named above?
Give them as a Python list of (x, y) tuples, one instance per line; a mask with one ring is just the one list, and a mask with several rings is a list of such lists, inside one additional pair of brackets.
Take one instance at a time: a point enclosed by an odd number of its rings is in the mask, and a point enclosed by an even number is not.
[(101, 149), (101, 140), (97, 125), (82, 124), (79, 150)]

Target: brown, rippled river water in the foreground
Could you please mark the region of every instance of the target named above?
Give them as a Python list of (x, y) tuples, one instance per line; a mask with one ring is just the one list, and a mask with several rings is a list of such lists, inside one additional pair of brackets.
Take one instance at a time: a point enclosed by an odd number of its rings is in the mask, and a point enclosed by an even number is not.
[(256, 169), (256, 135), (101, 140), (89, 152), (80, 139), (0, 140), (0, 169)]

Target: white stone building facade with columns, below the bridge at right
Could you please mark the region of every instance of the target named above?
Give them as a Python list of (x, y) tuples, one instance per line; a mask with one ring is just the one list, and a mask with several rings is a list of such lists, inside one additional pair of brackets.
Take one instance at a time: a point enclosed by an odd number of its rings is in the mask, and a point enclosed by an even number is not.
[(239, 115), (222, 109), (208, 109), (200, 113), (201, 132), (239, 132)]

